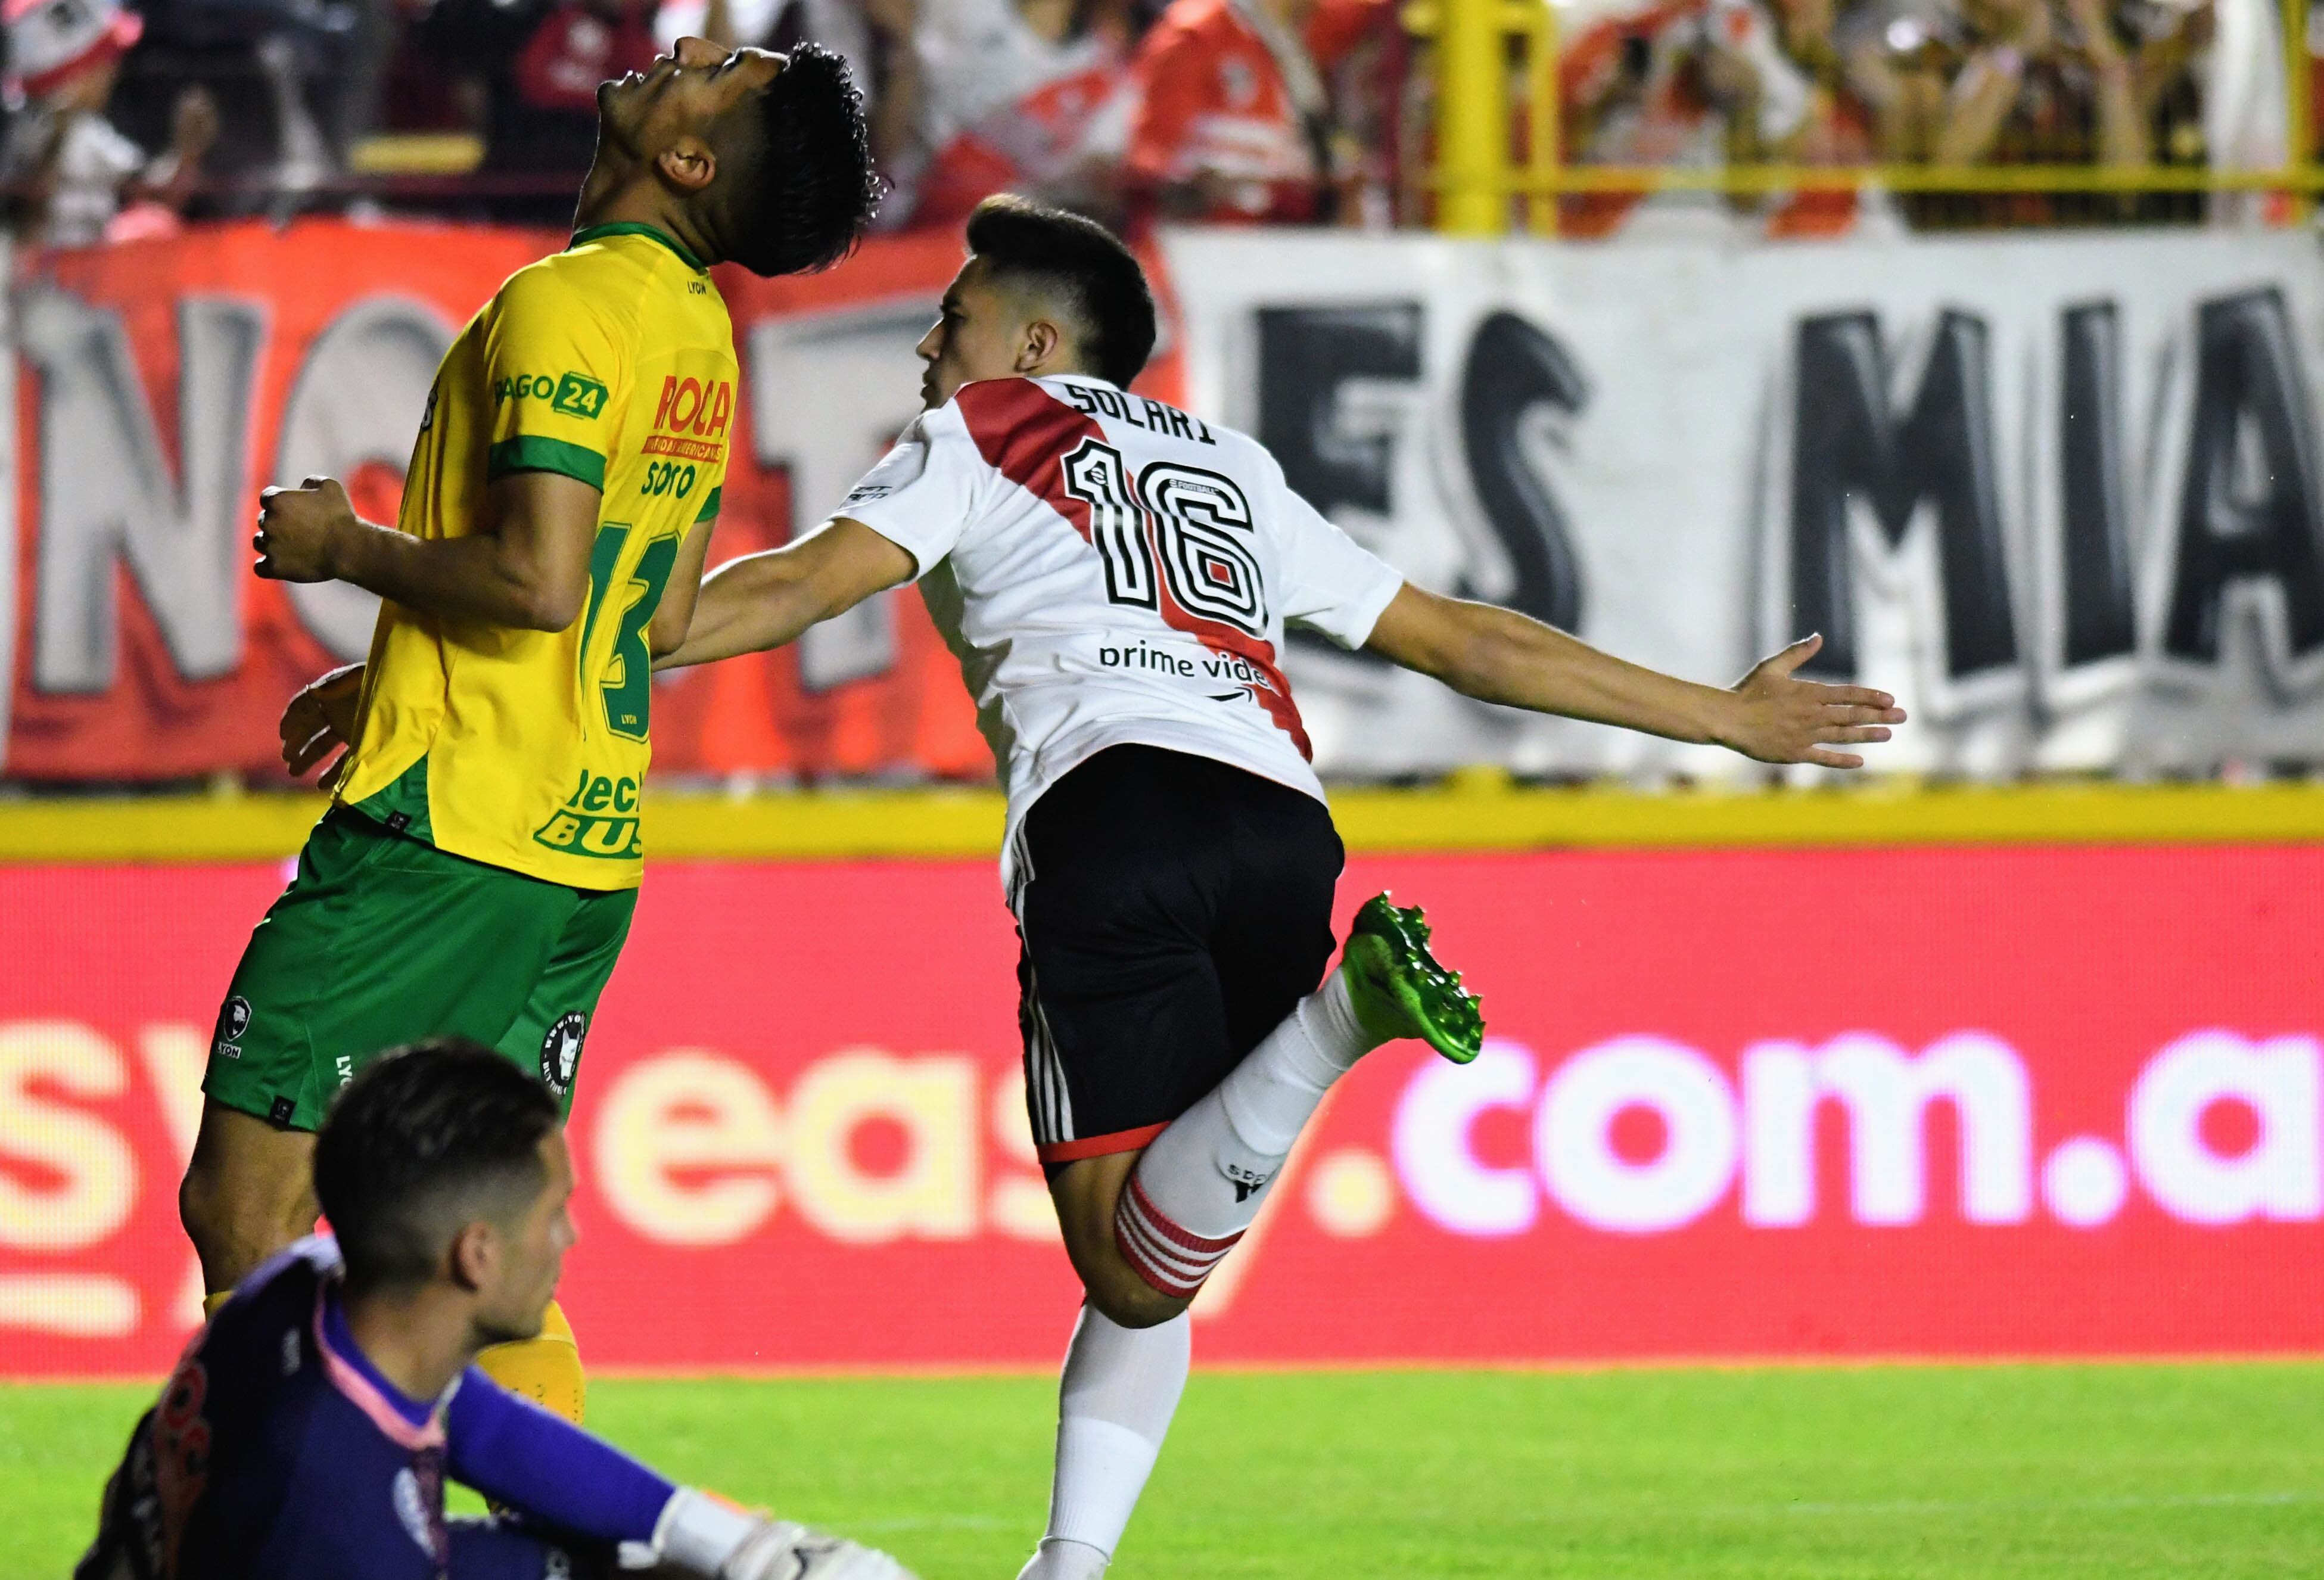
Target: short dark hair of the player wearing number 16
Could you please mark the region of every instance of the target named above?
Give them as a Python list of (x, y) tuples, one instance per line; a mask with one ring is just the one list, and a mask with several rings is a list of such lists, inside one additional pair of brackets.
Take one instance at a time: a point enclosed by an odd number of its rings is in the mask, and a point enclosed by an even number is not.
[(1127, 386), (1146, 367), (1155, 293), (1136, 256), (1095, 218), (1002, 193), (969, 214), (969, 253), (1071, 311), (1085, 372)]

